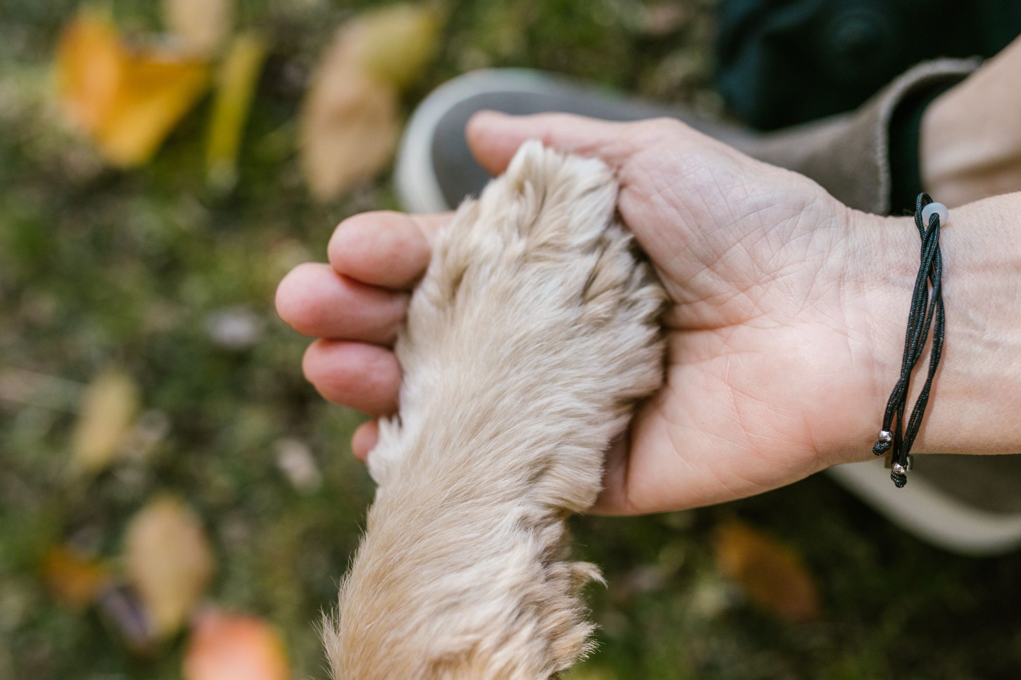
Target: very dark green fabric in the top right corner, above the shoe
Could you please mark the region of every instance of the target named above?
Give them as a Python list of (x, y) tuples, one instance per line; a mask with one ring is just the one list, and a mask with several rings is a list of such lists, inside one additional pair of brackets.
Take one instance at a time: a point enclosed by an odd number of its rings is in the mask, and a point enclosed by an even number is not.
[(1021, 34), (1018, 0), (721, 0), (717, 85), (774, 129), (849, 111), (911, 66), (992, 56)]

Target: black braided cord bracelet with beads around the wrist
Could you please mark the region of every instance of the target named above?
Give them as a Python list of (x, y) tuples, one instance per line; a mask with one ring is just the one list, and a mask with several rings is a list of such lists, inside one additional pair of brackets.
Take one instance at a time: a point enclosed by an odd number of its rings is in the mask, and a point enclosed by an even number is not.
[[(945, 225), (949, 213), (946, 206), (933, 203), (928, 194), (919, 194), (915, 203), (915, 226), (922, 237), (922, 257), (915, 279), (915, 291), (911, 296), (911, 310), (908, 313), (908, 329), (905, 332), (904, 358), (901, 361), (901, 378), (893, 385), (890, 398), (883, 412), (883, 428), (872, 447), (876, 456), (887, 455), (892, 462), (890, 479), (897, 488), (908, 483), (911, 469), (911, 447), (915, 443), (918, 430), (922, 426), (925, 407), (929, 403), (932, 379), (939, 366), (943, 352), (945, 317), (943, 314), (942, 273), (943, 260), (939, 251), (939, 227)], [(931, 289), (930, 289), (931, 286)], [(934, 327), (933, 327), (934, 326)], [(905, 427), (904, 414), (908, 406), (911, 373), (915, 369), (922, 350), (932, 330), (932, 349), (929, 354), (929, 370), (922, 391), (911, 410)]]

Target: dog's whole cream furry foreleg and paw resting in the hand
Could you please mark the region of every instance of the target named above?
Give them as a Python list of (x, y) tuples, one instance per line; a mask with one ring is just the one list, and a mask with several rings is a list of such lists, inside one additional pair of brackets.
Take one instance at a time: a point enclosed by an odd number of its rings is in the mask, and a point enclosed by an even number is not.
[(337, 680), (539, 680), (591, 650), (565, 519), (662, 379), (664, 293), (600, 161), (524, 145), (439, 236), (325, 641)]

